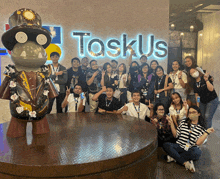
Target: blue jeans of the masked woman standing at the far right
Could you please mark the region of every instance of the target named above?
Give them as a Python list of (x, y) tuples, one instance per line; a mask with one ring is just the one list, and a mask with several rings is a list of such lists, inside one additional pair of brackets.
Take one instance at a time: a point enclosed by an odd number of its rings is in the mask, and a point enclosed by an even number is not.
[(199, 107), (201, 109), (202, 116), (205, 118), (206, 121), (206, 127), (207, 129), (212, 127), (212, 118), (215, 114), (215, 111), (218, 107), (219, 101), (218, 97), (213, 99), (207, 104), (201, 103), (199, 104)]

